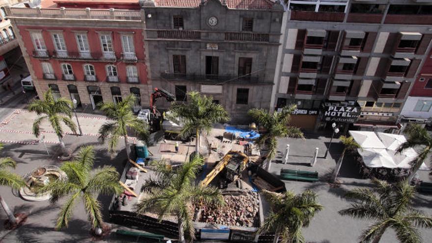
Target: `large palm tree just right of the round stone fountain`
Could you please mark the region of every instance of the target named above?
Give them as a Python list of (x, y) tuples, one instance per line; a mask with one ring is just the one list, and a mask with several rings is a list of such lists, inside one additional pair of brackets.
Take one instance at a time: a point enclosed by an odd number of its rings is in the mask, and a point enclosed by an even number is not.
[(119, 184), (119, 174), (112, 166), (93, 169), (94, 151), (92, 146), (82, 147), (75, 161), (65, 162), (60, 167), (66, 175), (65, 180), (50, 182), (40, 190), (40, 193), (49, 191), (50, 202), (55, 204), (59, 199), (68, 196), (58, 214), (56, 229), (68, 227), (69, 219), (76, 202), (81, 199), (92, 229), (101, 227), (103, 220), (101, 204), (97, 196), (102, 193), (110, 195), (120, 193), (123, 189)]

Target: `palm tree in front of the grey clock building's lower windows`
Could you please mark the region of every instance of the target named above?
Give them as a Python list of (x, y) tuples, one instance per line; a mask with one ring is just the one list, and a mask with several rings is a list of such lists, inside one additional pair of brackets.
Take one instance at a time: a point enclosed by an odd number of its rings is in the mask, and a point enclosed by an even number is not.
[(195, 91), (189, 92), (188, 96), (188, 104), (174, 103), (170, 112), (171, 116), (178, 117), (183, 122), (181, 137), (196, 135), (195, 153), (199, 154), (200, 134), (209, 132), (215, 123), (229, 121), (229, 116), (221, 105), (213, 102), (211, 96), (200, 95)]

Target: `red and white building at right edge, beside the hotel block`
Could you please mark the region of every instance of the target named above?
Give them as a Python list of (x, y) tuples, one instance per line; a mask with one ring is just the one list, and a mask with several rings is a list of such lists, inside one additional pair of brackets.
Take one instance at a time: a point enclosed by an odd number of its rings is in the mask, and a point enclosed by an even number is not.
[(432, 51), (417, 76), (402, 108), (400, 122), (432, 124)]

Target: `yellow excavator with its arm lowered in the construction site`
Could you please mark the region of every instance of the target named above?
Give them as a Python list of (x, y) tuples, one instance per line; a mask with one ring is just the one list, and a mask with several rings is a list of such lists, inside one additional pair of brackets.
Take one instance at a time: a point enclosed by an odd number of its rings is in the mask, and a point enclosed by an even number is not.
[(242, 171), (246, 168), (249, 162), (249, 157), (240, 151), (229, 151), (220, 160), (215, 168), (207, 174), (206, 178), (201, 181), (200, 185), (205, 187), (215, 179), (216, 175), (223, 171), (223, 176), (226, 181), (234, 182), (241, 177)]

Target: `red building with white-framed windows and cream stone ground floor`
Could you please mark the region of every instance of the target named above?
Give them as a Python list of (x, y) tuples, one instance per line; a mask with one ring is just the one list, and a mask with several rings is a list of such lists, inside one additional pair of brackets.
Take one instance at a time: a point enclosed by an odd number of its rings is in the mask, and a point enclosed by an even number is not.
[(42, 0), (6, 8), (36, 90), (95, 109), (134, 94), (149, 105), (143, 11), (136, 0)]

